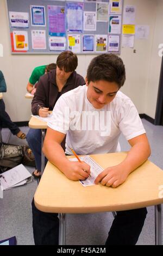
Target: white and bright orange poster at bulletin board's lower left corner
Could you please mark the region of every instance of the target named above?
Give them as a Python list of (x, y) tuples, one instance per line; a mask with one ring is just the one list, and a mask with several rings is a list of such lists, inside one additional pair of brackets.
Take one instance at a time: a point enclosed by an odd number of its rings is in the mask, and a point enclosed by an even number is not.
[[(13, 31), (12, 33), (13, 45), (12, 52), (28, 51), (28, 32), (27, 31)], [(12, 42), (12, 41), (11, 41)]]

